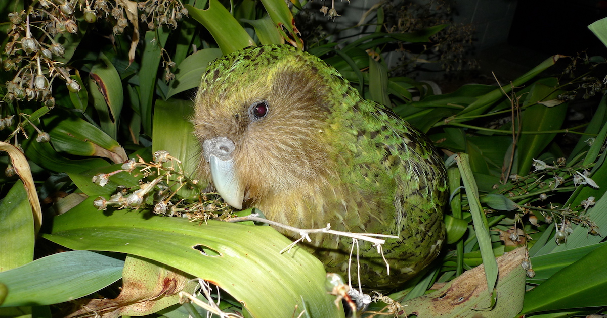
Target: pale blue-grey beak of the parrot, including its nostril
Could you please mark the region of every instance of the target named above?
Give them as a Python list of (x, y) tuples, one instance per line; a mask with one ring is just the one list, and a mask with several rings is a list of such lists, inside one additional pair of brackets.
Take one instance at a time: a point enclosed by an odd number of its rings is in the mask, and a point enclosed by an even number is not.
[(223, 201), (234, 208), (242, 209), (244, 189), (236, 176), (234, 167), (234, 142), (226, 137), (207, 139), (202, 143), (205, 160), (211, 165), (211, 176)]

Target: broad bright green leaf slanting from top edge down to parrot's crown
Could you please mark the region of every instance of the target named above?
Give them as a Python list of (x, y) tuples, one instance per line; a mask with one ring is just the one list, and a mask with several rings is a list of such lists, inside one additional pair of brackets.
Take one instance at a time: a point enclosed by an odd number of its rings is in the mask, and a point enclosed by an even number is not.
[(211, 33), (222, 53), (228, 54), (242, 48), (255, 46), (245, 29), (234, 19), (218, 0), (209, 0), (209, 8), (198, 9), (186, 4), (189, 15), (205, 26)]

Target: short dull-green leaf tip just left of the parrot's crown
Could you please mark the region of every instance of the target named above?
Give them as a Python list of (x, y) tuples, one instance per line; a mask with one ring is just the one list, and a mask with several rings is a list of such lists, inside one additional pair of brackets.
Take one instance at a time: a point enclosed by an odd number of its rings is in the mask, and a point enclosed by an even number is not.
[(185, 58), (175, 70), (175, 79), (169, 83), (166, 98), (198, 87), (209, 63), (220, 56), (222, 51), (219, 48), (205, 48)]

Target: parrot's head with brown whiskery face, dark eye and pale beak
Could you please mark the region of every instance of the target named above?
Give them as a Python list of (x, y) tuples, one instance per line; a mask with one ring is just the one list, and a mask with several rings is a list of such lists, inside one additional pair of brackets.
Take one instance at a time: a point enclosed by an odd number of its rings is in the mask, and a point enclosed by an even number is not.
[(212, 62), (193, 120), (202, 177), (239, 209), (330, 179), (337, 155), (330, 142), (340, 126), (335, 104), (345, 93), (330, 85), (335, 81), (347, 86), (325, 62), (287, 45)]

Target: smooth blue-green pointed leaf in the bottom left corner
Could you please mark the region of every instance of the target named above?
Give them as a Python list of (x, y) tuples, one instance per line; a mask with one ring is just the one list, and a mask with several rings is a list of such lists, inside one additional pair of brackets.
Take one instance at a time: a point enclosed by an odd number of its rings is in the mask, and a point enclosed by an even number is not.
[(101, 290), (122, 276), (124, 261), (90, 251), (42, 257), (0, 273), (8, 294), (0, 307), (67, 302)]

